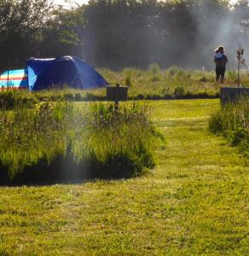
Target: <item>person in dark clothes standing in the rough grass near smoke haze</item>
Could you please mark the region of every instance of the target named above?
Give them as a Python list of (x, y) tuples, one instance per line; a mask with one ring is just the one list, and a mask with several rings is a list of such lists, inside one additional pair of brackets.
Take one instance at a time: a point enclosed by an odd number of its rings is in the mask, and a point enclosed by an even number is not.
[(215, 49), (215, 55), (214, 55), (214, 62), (216, 64), (216, 81), (221, 77), (221, 82), (224, 81), (224, 76), (226, 72), (226, 65), (229, 62), (227, 55), (224, 54), (224, 47), (219, 46), (217, 49)]

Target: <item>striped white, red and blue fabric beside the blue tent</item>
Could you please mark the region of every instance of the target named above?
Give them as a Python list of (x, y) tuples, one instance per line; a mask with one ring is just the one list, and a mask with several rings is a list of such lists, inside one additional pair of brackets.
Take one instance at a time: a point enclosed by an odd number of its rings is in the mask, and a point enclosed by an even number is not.
[(0, 90), (27, 89), (26, 69), (8, 70), (0, 74)]

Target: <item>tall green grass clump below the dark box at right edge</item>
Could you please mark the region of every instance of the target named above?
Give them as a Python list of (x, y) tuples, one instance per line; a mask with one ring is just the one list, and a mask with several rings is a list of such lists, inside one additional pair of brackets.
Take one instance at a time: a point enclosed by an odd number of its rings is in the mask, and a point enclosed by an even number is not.
[(249, 156), (249, 98), (230, 102), (211, 116), (211, 132), (223, 134), (229, 143), (238, 146)]

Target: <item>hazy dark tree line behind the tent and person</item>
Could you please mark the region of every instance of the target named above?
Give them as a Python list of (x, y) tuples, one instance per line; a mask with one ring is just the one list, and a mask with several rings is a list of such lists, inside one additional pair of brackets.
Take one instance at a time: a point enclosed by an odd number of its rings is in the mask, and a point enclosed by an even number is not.
[[(249, 43), (249, 0), (0, 0), (0, 70), (29, 57), (76, 55), (95, 67), (210, 68), (212, 50)], [(246, 46), (246, 45), (245, 45)]]

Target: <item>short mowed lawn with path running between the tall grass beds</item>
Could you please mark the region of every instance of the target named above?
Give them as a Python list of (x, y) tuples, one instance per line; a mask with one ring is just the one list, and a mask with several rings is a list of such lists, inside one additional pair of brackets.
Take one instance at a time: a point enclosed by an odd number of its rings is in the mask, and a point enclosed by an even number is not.
[(0, 188), (0, 255), (249, 254), (249, 170), (208, 131), (218, 100), (145, 104), (165, 136), (156, 168), (130, 180)]

